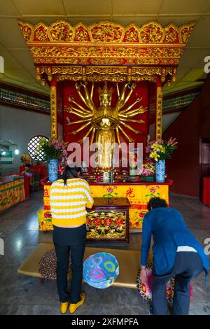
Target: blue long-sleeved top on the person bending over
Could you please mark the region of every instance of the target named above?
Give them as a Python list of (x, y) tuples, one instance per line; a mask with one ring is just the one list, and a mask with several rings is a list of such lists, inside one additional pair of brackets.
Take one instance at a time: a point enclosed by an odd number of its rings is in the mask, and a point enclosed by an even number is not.
[(174, 266), (176, 250), (179, 246), (195, 248), (202, 258), (204, 270), (208, 274), (209, 260), (197, 239), (188, 230), (183, 217), (173, 208), (155, 208), (146, 214), (143, 221), (141, 265), (146, 265), (153, 235), (153, 266), (156, 274), (170, 272)]

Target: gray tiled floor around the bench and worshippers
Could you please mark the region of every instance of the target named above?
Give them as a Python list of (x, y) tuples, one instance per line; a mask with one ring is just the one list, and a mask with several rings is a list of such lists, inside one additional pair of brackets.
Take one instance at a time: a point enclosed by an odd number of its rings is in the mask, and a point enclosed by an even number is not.
[[(210, 207), (180, 195), (171, 195), (170, 203), (181, 211), (188, 228), (204, 245), (204, 239), (210, 238)], [(40, 191), (0, 215), (0, 237), (5, 243), (5, 255), (0, 256), (0, 314), (59, 314), (55, 281), (45, 280), (40, 284), (38, 279), (17, 274), (18, 267), (39, 243), (52, 241), (51, 232), (38, 232), (36, 211), (41, 208)], [(139, 249), (140, 246), (141, 234), (135, 233), (130, 235), (129, 246), (109, 245), (109, 248)], [(210, 284), (204, 286), (203, 278), (200, 276), (192, 282), (190, 314), (210, 314)], [(139, 298), (136, 289), (96, 290), (87, 284), (83, 289), (87, 293), (86, 302), (76, 314), (148, 314), (148, 302)]]

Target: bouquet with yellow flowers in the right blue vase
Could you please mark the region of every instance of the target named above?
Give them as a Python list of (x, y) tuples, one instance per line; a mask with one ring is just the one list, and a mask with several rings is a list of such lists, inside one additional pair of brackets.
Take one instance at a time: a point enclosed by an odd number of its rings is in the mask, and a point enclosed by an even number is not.
[(176, 138), (172, 137), (168, 141), (148, 141), (146, 153), (155, 161), (170, 159), (177, 148), (176, 144)]

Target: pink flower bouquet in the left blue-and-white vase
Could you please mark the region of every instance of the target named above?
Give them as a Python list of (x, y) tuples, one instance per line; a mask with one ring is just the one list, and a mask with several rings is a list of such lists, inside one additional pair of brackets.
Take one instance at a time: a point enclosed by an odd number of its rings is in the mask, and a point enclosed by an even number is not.
[(50, 161), (52, 159), (61, 160), (62, 162), (66, 162), (67, 151), (66, 151), (66, 143), (64, 141), (60, 141), (59, 139), (41, 139), (37, 152), (41, 152), (44, 155), (45, 161)]

